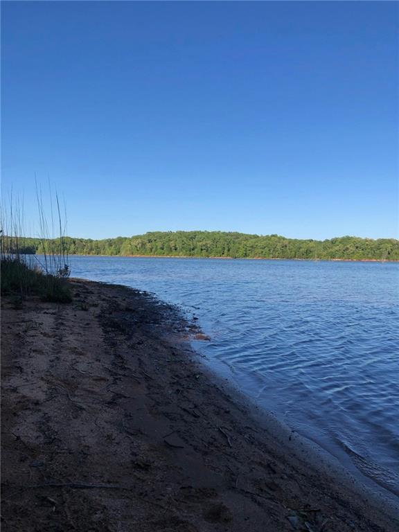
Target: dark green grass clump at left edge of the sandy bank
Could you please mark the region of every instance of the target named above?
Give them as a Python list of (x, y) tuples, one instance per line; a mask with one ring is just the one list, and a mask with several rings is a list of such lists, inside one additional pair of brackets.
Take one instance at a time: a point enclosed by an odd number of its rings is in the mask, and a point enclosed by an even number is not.
[(1, 294), (24, 297), (35, 294), (42, 301), (69, 303), (71, 288), (63, 272), (47, 274), (22, 256), (1, 257)]

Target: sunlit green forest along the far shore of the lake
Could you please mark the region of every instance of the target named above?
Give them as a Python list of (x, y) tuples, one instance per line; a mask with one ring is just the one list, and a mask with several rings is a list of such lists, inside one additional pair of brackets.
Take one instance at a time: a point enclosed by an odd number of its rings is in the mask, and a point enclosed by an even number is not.
[(105, 240), (19, 238), (17, 243), (19, 252), (29, 254), (42, 254), (54, 245), (69, 255), (399, 260), (399, 240), (354, 236), (299, 240), (221, 231), (158, 231)]

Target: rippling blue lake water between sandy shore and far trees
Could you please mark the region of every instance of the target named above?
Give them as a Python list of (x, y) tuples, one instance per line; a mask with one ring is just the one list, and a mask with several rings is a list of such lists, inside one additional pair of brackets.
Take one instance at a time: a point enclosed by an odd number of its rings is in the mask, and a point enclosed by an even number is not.
[(72, 257), (73, 276), (154, 292), (199, 317), (216, 371), (399, 494), (399, 265)]

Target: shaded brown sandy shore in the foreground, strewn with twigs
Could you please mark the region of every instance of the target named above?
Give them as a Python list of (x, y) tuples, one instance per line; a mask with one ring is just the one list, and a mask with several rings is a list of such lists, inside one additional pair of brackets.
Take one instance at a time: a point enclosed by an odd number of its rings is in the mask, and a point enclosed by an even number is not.
[(176, 308), (71, 285), (70, 305), (3, 298), (5, 530), (398, 529), (393, 506), (204, 366)]

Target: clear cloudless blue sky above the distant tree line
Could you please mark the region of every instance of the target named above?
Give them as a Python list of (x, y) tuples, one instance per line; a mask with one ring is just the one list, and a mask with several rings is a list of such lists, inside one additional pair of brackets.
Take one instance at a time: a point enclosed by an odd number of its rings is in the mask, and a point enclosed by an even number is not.
[(398, 238), (396, 2), (1, 2), (3, 190), (69, 234)]

